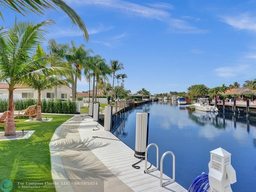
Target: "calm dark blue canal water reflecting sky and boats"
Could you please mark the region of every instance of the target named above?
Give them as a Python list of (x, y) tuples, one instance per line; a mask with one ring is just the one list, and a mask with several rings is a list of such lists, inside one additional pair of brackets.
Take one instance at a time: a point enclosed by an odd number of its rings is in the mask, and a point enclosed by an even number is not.
[[(204, 113), (185, 106), (153, 102), (114, 118), (112, 133), (135, 149), (136, 113), (149, 116), (148, 144), (156, 143), (160, 158), (166, 151), (176, 156), (176, 181), (188, 189), (202, 172), (208, 173), (210, 151), (219, 147), (231, 155), (237, 182), (233, 192), (251, 192), (256, 183), (256, 117), (232, 116), (231, 111)], [(148, 161), (156, 166), (156, 149), (148, 151)], [(159, 165), (160, 167), (160, 165)], [(164, 173), (172, 177), (172, 156), (164, 158)]]

